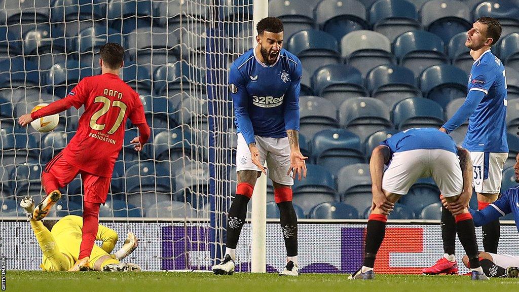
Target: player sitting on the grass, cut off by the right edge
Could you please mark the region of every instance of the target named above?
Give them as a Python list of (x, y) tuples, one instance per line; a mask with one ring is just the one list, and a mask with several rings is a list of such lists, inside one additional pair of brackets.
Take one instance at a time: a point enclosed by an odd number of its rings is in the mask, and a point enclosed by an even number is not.
[[(519, 154), (515, 157), (515, 182), (519, 183)], [(442, 203), (446, 203), (442, 200)], [(503, 192), (498, 200), (485, 207), (483, 210), (476, 211), (469, 209), (474, 219), (475, 227), (480, 227), (488, 222), (499, 220), (499, 217), (509, 213), (514, 215), (515, 225), (519, 231), (519, 187), (510, 188)], [(489, 277), (518, 277), (519, 276), (519, 256), (503, 255), (497, 253), (479, 253), (483, 272)], [(463, 264), (470, 268), (468, 257), (463, 257)]]

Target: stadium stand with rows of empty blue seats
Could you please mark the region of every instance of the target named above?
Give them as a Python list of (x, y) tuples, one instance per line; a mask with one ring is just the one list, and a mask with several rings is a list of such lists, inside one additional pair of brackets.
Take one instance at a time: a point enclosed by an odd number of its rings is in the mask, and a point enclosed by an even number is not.
[[(135, 153), (129, 147), (135, 129), (128, 129), (114, 171), (109, 196), (113, 200), (102, 210), (103, 216), (208, 217), (206, 198), (196, 200), (199, 196), (193, 193), (207, 194), (208, 185), (201, 183), (207, 179), (196, 178), (207, 178), (209, 169), (190, 157), (195, 149), (209, 156), (207, 132), (202, 138), (194, 133), (194, 125), (207, 129), (209, 124), (208, 107), (203, 103), (206, 92), (201, 88), (201, 99), (193, 100), (181, 91), (182, 82), (206, 78), (200, 69), (205, 58), (189, 64), (184, 61), (192, 58), (192, 48), (204, 51), (206, 44), (181, 39), (186, 31), (180, 24), (189, 21), (186, 16), (204, 18), (210, 11), (196, 5), (183, 7), (181, 1), (50, 3), (0, 0), (0, 7), (5, 8), (0, 11), (0, 66), (5, 68), (0, 72), (2, 214), (19, 214), (15, 199), (28, 192), (40, 194), (36, 173), (70, 141), (82, 110), (67, 111), (50, 134), (19, 128), (17, 117), (38, 103), (63, 98), (81, 78), (98, 74), (99, 56), (94, 53), (102, 44), (116, 42), (127, 48), (121, 77), (142, 96), (153, 144)], [(284, 22), (285, 48), (304, 67), (300, 144), (309, 162), (316, 163), (308, 164), (309, 173), (319, 174), (319, 179), (309, 176), (294, 185), (294, 202), (301, 206), (296, 208), (299, 218), (364, 216), (371, 204), (371, 178), (368, 169), (363, 174), (358, 171), (365, 169), (363, 163), (376, 145), (398, 130), (439, 127), (464, 101), (473, 63), (465, 46), (466, 31), (480, 16), (497, 17), (503, 25), (493, 51), (506, 65), (507, 166), (512, 165), (519, 152), (517, 4), (498, 0), (269, 1), (270, 15)], [(249, 19), (249, 10), (219, 12), (226, 19)], [(193, 25), (198, 35), (206, 33), (202, 23)], [(235, 41), (252, 29), (235, 25), (229, 46), (236, 46)], [(249, 44), (241, 51), (249, 49)], [(199, 109), (198, 115), (192, 115), (194, 108)], [(464, 124), (450, 134), (458, 144), (466, 128)], [(503, 188), (515, 185), (513, 169), (503, 173)], [(269, 201), (274, 200), (272, 190)], [(69, 200), (55, 214), (76, 214), (82, 192), (77, 179), (67, 190)], [(437, 200), (434, 183), (423, 181), (413, 186), (401, 204), (402, 209), (412, 211), (413, 218), (432, 219), (438, 218)], [(330, 201), (335, 203), (326, 203)], [(328, 206), (327, 215), (317, 215), (314, 207), (318, 204)], [(345, 204), (353, 206), (357, 215), (337, 211)], [(416, 208), (410, 209), (411, 205)], [(267, 206), (269, 218), (278, 218), (276, 205)], [(336, 210), (331, 211), (332, 207)], [(404, 213), (393, 216), (411, 218)]]

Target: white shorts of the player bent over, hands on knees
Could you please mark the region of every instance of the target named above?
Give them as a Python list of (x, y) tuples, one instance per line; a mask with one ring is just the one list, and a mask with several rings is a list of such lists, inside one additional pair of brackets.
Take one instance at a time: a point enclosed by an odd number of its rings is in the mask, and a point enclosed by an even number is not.
[(422, 177), (432, 177), (445, 197), (457, 196), (463, 189), (458, 155), (443, 149), (417, 149), (396, 152), (384, 171), (382, 189), (405, 195)]

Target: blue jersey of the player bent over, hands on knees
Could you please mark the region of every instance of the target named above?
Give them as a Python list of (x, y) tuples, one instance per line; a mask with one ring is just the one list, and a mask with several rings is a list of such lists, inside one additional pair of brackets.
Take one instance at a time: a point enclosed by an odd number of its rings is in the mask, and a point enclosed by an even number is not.
[(435, 128), (413, 128), (398, 132), (380, 143), (395, 152), (417, 149), (443, 149), (458, 153), (456, 142), (449, 135)]

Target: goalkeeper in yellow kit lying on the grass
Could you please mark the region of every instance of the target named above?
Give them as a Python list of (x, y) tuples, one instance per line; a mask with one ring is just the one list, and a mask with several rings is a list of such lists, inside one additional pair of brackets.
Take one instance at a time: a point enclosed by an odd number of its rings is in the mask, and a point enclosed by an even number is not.
[[(34, 200), (31, 196), (23, 198), (20, 206), (28, 214), (31, 228), (36, 235), (39, 247), (43, 251), (42, 269), (44, 271), (68, 271), (79, 256), (83, 219), (79, 216), (69, 215), (58, 221), (36, 221), (32, 218)], [(99, 224), (99, 230), (95, 237), (96, 240), (101, 240), (103, 245), (102, 247), (95, 244), (93, 246), (89, 264), (91, 270), (105, 272), (141, 271), (141, 268), (134, 263), (120, 262), (137, 247), (137, 238), (133, 233), (128, 232), (125, 244), (113, 255), (110, 253), (117, 243), (117, 232)]]

